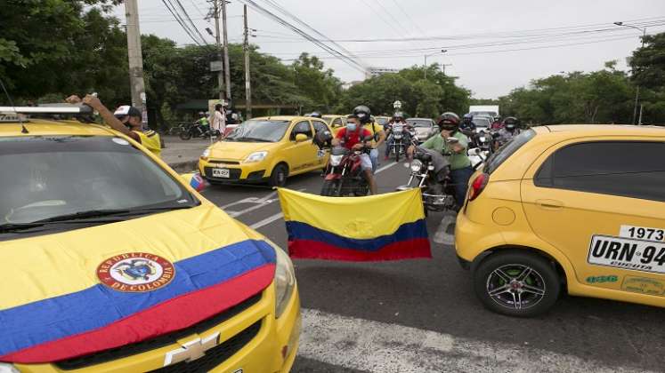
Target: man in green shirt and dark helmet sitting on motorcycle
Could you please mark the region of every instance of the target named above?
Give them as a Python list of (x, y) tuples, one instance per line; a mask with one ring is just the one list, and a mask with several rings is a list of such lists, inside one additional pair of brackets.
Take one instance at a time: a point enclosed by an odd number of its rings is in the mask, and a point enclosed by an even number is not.
[[(466, 188), (468, 187), (471, 175), (474, 173), (474, 169), (471, 167), (471, 160), (466, 155), (469, 139), (464, 133), (459, 131), (459, 116), (455, 113), (443, 113), (439, 117), (438, 125), (439, 134), (428, 139), (420, 147), (432, 149), (442, 154), (450, 154), (448, 155), (450, 180), (453, 187), (455, 187), (455, 201), (459, 210), (464, 205)], [(458, 140), (456, 142), (448, 142), (448, 138)], [(415, 149), (413, 146), (409, 147), (407, 154), (411, 157)]]

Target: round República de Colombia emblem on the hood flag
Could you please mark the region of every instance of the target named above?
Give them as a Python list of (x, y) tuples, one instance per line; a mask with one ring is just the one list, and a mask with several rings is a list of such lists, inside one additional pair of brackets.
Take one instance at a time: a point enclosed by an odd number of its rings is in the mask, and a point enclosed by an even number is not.
[(174, 279), (173, 263), (146, 252), (128, 252), (108, 258), (97, 267), (97, 277), (112, 290), (146, 292)]

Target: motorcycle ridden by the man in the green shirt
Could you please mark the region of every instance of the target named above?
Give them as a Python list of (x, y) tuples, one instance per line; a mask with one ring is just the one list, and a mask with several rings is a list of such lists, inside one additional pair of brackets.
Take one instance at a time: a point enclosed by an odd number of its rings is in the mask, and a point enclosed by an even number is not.
[[(452, 138), (454, 139), (454, 138)], [(457, 139), (449, 139), (449, 142)], [(420, 188), (425, 211), (453, 210), (455, 208), (455, 189), (450, 181), (450, 162), (447, 156), (434, 150), (418, 148), (410, 163), (407, 184), (397, 187), (398, 191)]]

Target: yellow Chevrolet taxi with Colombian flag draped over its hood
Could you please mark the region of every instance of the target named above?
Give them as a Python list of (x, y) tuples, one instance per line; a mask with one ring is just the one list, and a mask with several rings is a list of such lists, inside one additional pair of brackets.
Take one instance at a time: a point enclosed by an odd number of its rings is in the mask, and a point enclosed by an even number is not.
[(0, 107), (0, 372), (288, 372), (288, 255), (134, 140), (36, 119), (85, 112)]

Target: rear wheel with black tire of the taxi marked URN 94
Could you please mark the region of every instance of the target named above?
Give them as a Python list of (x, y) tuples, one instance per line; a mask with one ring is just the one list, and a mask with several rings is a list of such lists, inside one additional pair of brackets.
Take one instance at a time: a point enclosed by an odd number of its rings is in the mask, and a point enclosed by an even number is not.
[(484, 258), (475, 269), (474, 290), (491, 311), (532, 317), (555, 306), (561, 278), (546, 258), (523, 250), (499, 251)]

